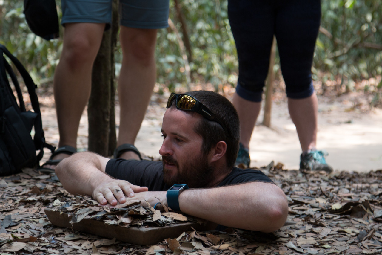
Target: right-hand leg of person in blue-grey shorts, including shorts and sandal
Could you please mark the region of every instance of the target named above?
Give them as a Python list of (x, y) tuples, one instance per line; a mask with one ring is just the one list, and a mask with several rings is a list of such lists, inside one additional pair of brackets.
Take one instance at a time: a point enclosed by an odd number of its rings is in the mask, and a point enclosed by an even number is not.
[(114, 157), (141, 157), (134, 142), (155, 85), (157, 29), (168, 26), (168, 10), (168, 0), (120, 0), (123, 60), (118, 80), (120, 127)]

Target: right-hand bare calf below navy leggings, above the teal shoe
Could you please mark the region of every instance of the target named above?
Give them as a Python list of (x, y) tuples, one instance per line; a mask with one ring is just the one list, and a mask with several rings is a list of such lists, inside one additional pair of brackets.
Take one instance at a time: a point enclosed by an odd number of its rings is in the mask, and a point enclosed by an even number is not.
[(296, 126), (303, 152), (316, 149), (318, 100), (314, 92), (308, 98), (288, 98), (290, 117)]

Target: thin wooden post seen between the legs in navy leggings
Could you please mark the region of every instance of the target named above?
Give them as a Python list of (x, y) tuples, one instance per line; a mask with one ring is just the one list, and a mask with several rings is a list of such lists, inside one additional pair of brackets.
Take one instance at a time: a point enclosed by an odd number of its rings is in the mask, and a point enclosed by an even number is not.
[(275, 74), (273, 72), (273, 66), (275, 65), (276, 55), (276, 38), (273, 37), (272, 50), (269, 58), (269, 69), (267, 81), (265, 83), (265, 106), (264, 106), (264, 119), (263, 125), (270, 127), (270, 113), (272, 110), (272, 87), (275, 80)]

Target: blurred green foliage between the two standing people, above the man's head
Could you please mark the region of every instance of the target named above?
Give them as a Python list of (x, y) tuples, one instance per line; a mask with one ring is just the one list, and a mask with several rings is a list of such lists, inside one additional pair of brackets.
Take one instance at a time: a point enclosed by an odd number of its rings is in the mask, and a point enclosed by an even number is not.
[[(170, 5), (170, 18), (177, 30), (182, 31), (176, 16), (175, 2), (171, 1)], [(183, 0), (180, 5), (193, 51), (193, 61), (189, 63), (191, 78), (197, 82), (211, 82), (216, 90), (227, 80), (236, 82), (232, 78), (237, 72), (236, 48), (230, 32), (227, 1)], [(158, 44), (156, 54), (159, 60), (159, 82), (168, 84), (170, 89), (184, 84), (186, 74), (182, 71), (185, 62), (179, 53), (175, 31), (159, 31)]]

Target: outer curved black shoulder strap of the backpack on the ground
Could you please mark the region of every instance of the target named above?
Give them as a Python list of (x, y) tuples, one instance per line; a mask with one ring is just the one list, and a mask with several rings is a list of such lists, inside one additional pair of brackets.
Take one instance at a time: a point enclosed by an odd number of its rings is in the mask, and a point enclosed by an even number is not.
[[(45, 142), (44, 130), (42, 129), (40, 105), (39, 105), (39, 100), (36, 94), (37, 85), (33, 82), (31, 76), (29, 75), (28, 71), (24, 68), (23, 64), (21, 64), (21, 62), (15, 56), (13, 56), (8, 51), (8, 49), (6, 49), (4, 45), (0, 44), (0, 49), (2, 49), (3, 53), (5, 53), (7, 57), (9, 57), (9, 59), (13, 62), (13, 64), (16, 66), (17, 70), (23, 77), (24, 83), (28, 89), (29, 98), (31, 99), (32, 108), (34, 112), (37, 113), (36, 120), (34, 123), (35, 135), (34, 135), (33, 141), (34, 141), (36, 150), (40, 150), (39, 154), (37, 155), (37, 160), (40, 161), (40, 159), (42, 159), (42, 156), (44, 155), (44, 147), (47, 147), (52, 152), (54, 151), (55, 148), (52, 145), (49, 145)], [(19, 93), (18, 93), (18, 96), (19, 96)], [(19, 101), (23, 101), (22, 95), (21, 95), (21, 100)], [(23, 104), (24, 104), (24, 101), (23, 101)]]

